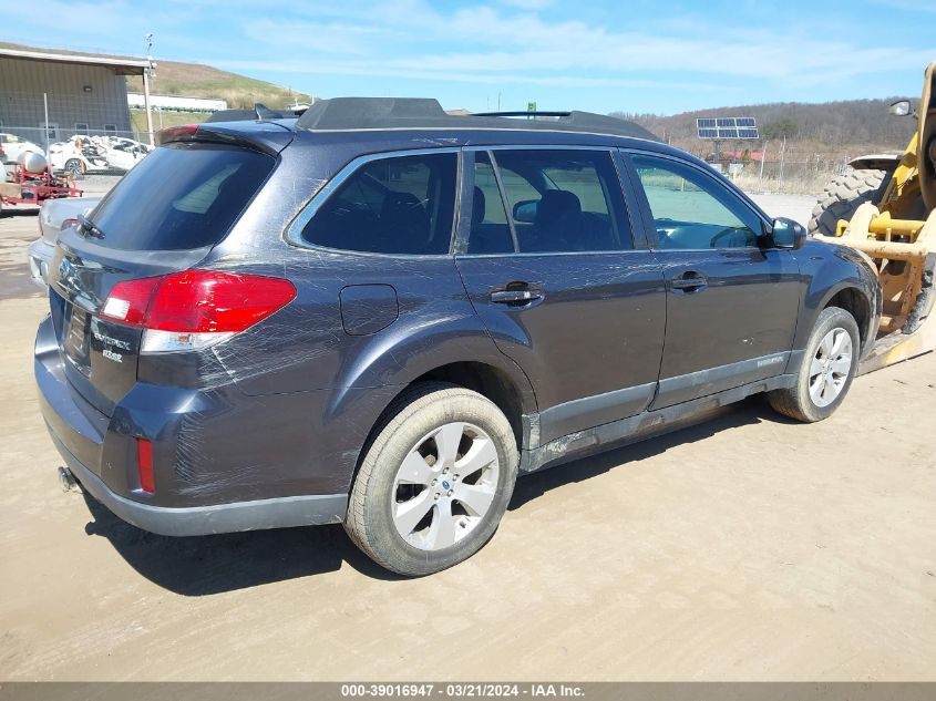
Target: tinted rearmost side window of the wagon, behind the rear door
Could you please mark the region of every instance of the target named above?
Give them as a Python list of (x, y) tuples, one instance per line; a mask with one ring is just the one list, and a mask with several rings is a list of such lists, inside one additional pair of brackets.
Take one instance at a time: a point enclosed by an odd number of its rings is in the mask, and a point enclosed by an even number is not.
[(452, 241), (457, 155), (391, 156), (363, 164), (302, 229), (316, 246), (444, 255)]

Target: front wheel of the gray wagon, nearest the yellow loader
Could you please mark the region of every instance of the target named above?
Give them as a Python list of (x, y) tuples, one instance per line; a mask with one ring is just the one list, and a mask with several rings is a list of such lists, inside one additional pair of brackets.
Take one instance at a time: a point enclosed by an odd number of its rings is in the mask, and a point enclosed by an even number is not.
[(812, 423), (839, 408), (858, 368), (861, 338), (855, 318), (839, 307), (819, 315), (803, 353), (796, 383), (768, 393), (774, 411)]

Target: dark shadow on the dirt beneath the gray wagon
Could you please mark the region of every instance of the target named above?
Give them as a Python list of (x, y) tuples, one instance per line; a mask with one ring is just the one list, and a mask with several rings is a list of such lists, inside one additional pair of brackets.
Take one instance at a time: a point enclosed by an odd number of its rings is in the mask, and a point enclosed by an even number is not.
[[(762, 420), (789, 421), (773, 413), (762, 399), (752, 398), (673, 433), (525, 476), (517, 482), (508, 508), (517, 509), (551, 489), (619, 465), (626, 470), (626, 463), (659, 455), (675, 445)], [(321, 575), (338, 570), (344, 563), (374, 579), (405, 579), (374, 565), (340, 525), (171, 538), (131, 526), (88, 494), (84, 499), (94, 519), (85, 526), (88, 535), (107, 538), (137, 573), (183, 596), (209, 596)]]

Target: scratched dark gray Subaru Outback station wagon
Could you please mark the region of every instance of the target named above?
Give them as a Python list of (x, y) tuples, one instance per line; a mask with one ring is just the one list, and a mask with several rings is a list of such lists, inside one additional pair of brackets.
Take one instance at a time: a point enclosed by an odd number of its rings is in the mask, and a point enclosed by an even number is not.
[(521, 473), (767, 392), (831, 414), (881, 293), (641, 127), (336, 99), (173, 127), (50, 262), (42, 413), (165, 535), (343, 523), (424, 575)]

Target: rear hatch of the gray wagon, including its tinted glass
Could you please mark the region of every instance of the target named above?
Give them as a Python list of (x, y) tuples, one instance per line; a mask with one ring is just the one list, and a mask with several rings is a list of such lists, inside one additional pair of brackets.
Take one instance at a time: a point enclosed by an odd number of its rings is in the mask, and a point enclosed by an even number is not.
[(63, 230), (49, 271), (65, 374), (99, 411), (136, 381), (141, 328), (101, 316), (121, 282), (189, 269), (230, 230), (276, 165), (270, 153), (198, 141), (156, 148)]

